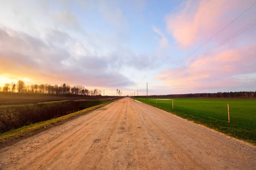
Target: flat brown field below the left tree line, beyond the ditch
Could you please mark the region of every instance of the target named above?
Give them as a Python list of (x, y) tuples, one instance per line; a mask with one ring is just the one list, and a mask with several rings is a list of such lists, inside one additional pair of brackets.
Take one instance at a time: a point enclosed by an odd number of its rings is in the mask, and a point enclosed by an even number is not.
[(3, 96), (0, 95), (1, 105), (23, 105), (35, 104), (38, 102), (52, 102), (60, 100), (80, 100), (80, 99), (105, 99), (108, 100), (116, 96), (84, 96), (84, 97), (64, 97), (64, 96)]

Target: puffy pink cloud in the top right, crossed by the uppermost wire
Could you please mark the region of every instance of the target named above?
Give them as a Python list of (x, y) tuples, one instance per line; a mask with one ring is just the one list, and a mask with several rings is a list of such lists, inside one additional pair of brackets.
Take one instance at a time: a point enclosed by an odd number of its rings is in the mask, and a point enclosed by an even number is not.
[[(175, 14), (166, 16), (166, 28), (181, 48), (207, 41), (239, 14), (250, 7), (254, 0), (188, 0)], [(214, 40), (228, 37), (254, 20), (256, 9), (252, 7), (235, 22), (221, 31)], [(202, 43), (202, 42), (200, 42)]]

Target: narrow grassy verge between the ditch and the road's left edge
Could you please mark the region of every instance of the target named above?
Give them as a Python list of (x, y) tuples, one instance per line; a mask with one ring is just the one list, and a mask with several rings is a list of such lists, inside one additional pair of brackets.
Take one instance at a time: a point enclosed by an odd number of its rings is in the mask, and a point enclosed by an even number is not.
[[(116, 101), (116, 100), (113, 100), (113, 101)], [(5, 133), (1, 133), (0, 134), (0, 142), (4, 142), (6, 139), (13, 139), (13, 138), (23, 136), (26, 133), (35, 132), (37, 130), (40, 130), (40, 129), (44, 128), (47, 125), (55, 124), (55, 123), (62, 122), (64, 120), (73, 118), (75, 116), (79, 116), (83, 113), (92, 111), (96, 108), (100, 108), (102, 106), (108, 105), (109, 103), (111, 103), (113, 101), (104, 101), (104, 102), (102, 102), (102, 104), (99, 104), (99, 105), (96, 105), (96, 106), (93, 106), (93, 107), (90, 107), (90, 108), (86, 108), (84, 110), (77, 111), (75, 113), (70, 113), (70, 114), (67, 114), (65, 116), (57, 117), (55, 119), (50, 119), (50, 120), (47, 120), (47, 121), (38, 122), (38, 123), (35, 123), (35, 124), (32, 124), (32, 125), (23, 126), (23, 127), (18, 128), (18, 129), (14, 129), (14, 130), (10, 130), (10, 131), (5, 132)]]

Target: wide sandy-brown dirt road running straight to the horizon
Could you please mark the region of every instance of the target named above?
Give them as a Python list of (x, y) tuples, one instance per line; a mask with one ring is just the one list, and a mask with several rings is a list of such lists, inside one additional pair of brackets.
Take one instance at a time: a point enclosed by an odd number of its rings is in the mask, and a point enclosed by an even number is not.
[(0, 169), (256, 169), (256, 147), (124, 98), (0, 149)]

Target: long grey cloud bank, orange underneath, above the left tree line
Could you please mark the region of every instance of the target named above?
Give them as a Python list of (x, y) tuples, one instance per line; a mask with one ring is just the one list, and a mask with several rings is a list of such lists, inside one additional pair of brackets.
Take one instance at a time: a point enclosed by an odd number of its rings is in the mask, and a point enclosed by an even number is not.
[(0, 27), (0, 77), (8, 74), (34, 83), (125, 87), (134, 82), (120, 74), (120, 69), (141, 71), (161, 63), (154, 55), (134, 54), (122, 46), (105, 54), (94, 53), (58, 29), (48, 28), (42, 37)]

